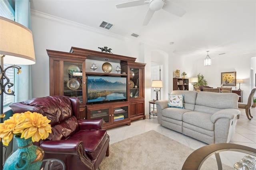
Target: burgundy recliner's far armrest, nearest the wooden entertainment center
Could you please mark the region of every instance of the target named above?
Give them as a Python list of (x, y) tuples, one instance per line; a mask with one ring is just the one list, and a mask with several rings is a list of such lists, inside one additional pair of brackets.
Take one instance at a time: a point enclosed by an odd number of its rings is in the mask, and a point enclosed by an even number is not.
[(103, 119), (78, 119), (80, 130), (99, 130), (103, 123)]

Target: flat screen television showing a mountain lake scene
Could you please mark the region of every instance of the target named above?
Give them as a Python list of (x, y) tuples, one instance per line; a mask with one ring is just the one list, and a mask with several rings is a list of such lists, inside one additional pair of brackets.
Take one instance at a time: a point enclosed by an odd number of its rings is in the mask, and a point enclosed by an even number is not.
[(126, 100), (127, 78), (116, 76), (87, 76), (87, 103)]

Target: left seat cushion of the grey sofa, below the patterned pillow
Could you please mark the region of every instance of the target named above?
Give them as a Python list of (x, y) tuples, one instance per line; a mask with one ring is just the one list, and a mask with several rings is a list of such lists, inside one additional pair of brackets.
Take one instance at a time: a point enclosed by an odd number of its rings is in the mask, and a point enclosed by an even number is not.
[(162, 110), (162, 116), (176, 120), (182, 120), (182, 114), (190, 111), (192, 110), (180, 108), (165, 108), (164, 110)]

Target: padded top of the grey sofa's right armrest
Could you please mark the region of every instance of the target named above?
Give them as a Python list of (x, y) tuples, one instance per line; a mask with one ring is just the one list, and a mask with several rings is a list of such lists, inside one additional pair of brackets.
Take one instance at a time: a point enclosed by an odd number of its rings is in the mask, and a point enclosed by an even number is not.
[(223, 109), (212, 115), (211, 122), (215, 123), (220, 118), (234, 119), (235, 116), (239, 118), (240, 113), (238, 109)]

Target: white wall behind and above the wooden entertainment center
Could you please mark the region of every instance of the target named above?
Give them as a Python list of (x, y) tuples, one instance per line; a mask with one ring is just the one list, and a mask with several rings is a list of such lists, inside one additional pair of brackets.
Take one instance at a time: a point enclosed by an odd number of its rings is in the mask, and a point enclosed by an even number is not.
[[(172, 52), (167, 47), (128, 40), (105, 31), (92, 30), (87, 26), (36, 11), (32, 11), (31, 25), (36, 54), (36, 64), (32, 65), (33, 98), (50, 94), (49, 74), (51, 73), (49, 73), (49, 57), (46, 49), (69, 52), (70, 48), (74, 46), (99, 51), (98, 47), (108, 46), (108, 48), (112, 48), (114, 54), (134, 57), (137, 58), (136, 62), (146, 63), (145, 113), (148, 112), (148, 101), (151, 98), (150, 67), (152, 51), (161, 51), (165, 55), (163, 60), (166, 61), (162, 62), (166, 62), (164, 74), (167, 75), (164, 76), (168, 77), (168, 57), (172, 55)], [(98, 70), (100, 70), (100, 63), (96, 62), (96, 64)], [(112, 66), (115, 68), (115, 65), (112, 64)], [(167, 88), (168, 79), (165, 84)], [(168, 93), (167, 91), (165, 93)]]

